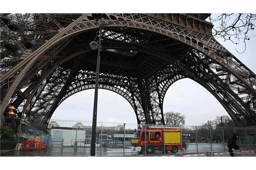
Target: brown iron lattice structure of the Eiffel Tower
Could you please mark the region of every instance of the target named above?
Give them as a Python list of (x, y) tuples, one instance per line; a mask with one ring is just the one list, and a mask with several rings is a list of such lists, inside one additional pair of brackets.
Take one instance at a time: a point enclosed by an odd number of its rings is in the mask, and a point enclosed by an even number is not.
[[(214, 39), (210, 14), (103, 15), (120, 21), (103, 28), (99, 88), (124, 97), (138, 124), (164, 124), (167, 89), (190, 78), (237, 126), (256, 126), (256, 75)], [(1, 114), (14, 105), (48, 124), (65, 99), (93, 89), (99, 24), (94, 14), (1, 14)]]

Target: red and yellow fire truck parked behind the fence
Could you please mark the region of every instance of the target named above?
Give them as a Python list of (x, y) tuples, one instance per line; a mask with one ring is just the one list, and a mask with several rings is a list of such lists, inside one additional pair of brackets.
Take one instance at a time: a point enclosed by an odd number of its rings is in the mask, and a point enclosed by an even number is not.
[[(181, 150), (181, 129), (180, 128), (149, 128), (136, 130), (134, 138), (131, 139), (132, 151), (151, 154), (156, 150), (172, 153)], [(146, 135), (146, 140), (145, 140)], [(145, 147), (146, 144), (146, 147)]]

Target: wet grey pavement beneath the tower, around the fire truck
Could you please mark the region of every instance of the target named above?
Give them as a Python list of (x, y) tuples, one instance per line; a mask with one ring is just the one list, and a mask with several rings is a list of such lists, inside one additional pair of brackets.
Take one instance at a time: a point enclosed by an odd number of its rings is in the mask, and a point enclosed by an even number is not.
[[(225, 143), (224, 146), (227, 144)], [(223, 143), (213, 143), (212, 144), (212, 151), (215, 153), (217, 152), (224, 152)], [(254, 145), (247, 145), (243, 146), (240, 145), (243, 151), (248, 150), (255, 150)], [(188, 149), (183, 150), (183, 154), (191, 154), (191, 153), (206, 153), (207, 151), (211, 151), (211, 144), (210, 143), (188, 143)], [(225, 148), (225, 151), (228, 151), (228, 148)], [(181, 152), (181, 150), (179, 150)], [(131, 146), (129, 142), (125, 143), (125, 154), (123, 150), (123, 145), (108, 145), (102, 146), (101, 153), (100, 153), (100, 146), (96, 146), (96, 156), (145, 156), (145, 154), (139, 154), (138, 152), (131, 151)], [(164, 153), (161, 151), (155, 151), (154, 154), (146, 154), (146, 156), (163, 156)], [(170, 152), (166, 152), (165, 155), (175, 155)], [(47, 149), (30, 149), (30, 150), (21, 150), (21, 151), (1, 151), (0, 156), (47, 156)], [(77, 148), (76, 152), (74, 151), (74, 147), (71, 146), (64, 146), (64, 147), (50, 147), (48, 156), (90, 156), (90, 145), (84, 145)], [(215, 155), (217, 156), (230, 156), (229, 154), (221, 154)], [(256, 156), (255, 153), (241, 153), (241, 156)]]

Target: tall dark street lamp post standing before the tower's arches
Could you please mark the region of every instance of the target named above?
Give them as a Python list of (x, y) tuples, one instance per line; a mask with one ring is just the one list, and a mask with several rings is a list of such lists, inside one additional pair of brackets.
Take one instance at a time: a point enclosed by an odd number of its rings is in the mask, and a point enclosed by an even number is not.
[[(123, 21), (123, 20), (117, 20), (108, 24), (103, 24), (103, 14), (96, 14), (95, 17), (96, 21), (100, 20), (100, 32), (99, 35), (99, 45), (96, 42), (96, 37), (94, 38), (94, 41), (90, 43), (90, 47), (95, 50), (98, 48), (98, 57), (97, 57), (97, 68), (96, 68), (96, 80), (95, 80), (95, 92), (94, 92), (94, 104), (93, 104), (93, 117), (92, 117), (92, 139), (91, 139), (91, 156), (95, 156), (95, 148), (96, 148), (96, 125), (97, 125), (97, 105), (98, 105), (98, 84), (99, 84), (99, 69), (100, 69), (100, 48), (101, 48), (101, 34), (102, 34), (102, 28), (103, 26), (109, 26), (115, 22)], [(124, 21), (124, 30), (127, 29), (126, 21)]]

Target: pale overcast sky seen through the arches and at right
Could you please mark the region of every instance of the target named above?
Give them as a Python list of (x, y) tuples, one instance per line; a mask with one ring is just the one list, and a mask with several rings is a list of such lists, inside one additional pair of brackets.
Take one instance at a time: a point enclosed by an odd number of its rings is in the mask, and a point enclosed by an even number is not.
[[(244, 47), (242, 43), (234, 45), (232, 42), (223, 42), (220, 38), (217, 41), (256, 73), (255, 37), (247, 42), (247, 48), (243, 54), (235, 50), (237, 48), (242, 51)], [(76, 93), (61, 103), (52, 119), (92, 121), (93, 99), (94, 89)], [(214, 120), (216, 116), (228, 115), (217, 99), (201, 85), (188, 78), (175, 82), (167, 90), (163, 111), (185, 114), (185, 125), (191, 126), (200, 126), (207, 120)], [(135, 113), (128, 101), (114, 92), (102, 89), (99, 89), (98, 94), (97, 122), (137, 123)], [(91, 126), (91, 123), (88, 125)]]

